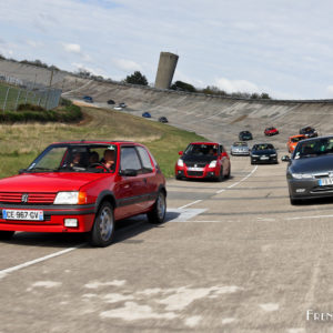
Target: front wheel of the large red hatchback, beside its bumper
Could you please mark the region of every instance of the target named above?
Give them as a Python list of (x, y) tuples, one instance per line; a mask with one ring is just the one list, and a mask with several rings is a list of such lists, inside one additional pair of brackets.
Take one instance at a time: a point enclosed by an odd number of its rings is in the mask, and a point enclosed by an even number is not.
[(105, 248), (110, 245), (114, 236), (113, 206), (104, 201), (95, 214), (92, 230), (88, 234), (88, 241), (92, 246)]

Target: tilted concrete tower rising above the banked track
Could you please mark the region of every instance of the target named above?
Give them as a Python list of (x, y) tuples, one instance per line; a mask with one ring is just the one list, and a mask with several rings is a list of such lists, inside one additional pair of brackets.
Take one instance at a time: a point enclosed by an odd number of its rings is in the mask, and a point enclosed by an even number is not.
[(160, 53), (160, 62), (155, 79), (155, 88), (169, 89), (172, 82), (174, 70), (178, 62), (178, 56), (170, 52)]

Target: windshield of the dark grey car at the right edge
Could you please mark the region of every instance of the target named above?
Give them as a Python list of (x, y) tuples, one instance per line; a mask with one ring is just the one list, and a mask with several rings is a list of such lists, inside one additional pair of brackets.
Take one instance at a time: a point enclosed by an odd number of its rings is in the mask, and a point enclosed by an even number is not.
[(314, 139), (300, 142), (294, 152), (295, 159), (313, 158), (333, 153), (333, 138)]

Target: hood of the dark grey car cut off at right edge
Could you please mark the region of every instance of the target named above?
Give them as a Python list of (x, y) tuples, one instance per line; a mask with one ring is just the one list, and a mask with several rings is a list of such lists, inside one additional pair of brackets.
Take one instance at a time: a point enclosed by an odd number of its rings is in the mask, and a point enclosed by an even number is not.
[(292, 160), (289, 168), (294, 173), (321, 173), (333, 171), (333, 155)]

